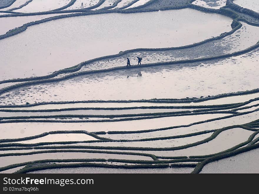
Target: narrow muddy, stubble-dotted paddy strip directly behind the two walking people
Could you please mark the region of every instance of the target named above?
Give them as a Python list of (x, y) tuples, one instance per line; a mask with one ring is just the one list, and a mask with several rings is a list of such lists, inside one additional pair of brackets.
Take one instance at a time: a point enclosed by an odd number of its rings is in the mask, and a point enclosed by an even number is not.
[[(197, 45), (195, 47), (185, 49), (165, 51), (139, 51), (127, 53), (117, 58), (108, 58), (89, 63), (82, 66), (79, 72), (124, 66), (125, 58), (127, 57), (130, 59), (132, 64), (136, 64), (136, 56), (141, 56), (143, 58), (142, 64), (146, 64), (202, 57), (215, 57), (216, 53), (217, 55), (224, 55), (244, 50), (252, 45), (255, 45), (258, 42), (259, 28), (257, 26), (248, 25), (244, 22), (241, 23), (242, 26), (240, 29), (235, 31), (233, 34), (219, 40), (210, 41), (202, 45)], [(207, 47), (210, 47), (210, 50), (207, 50)]]

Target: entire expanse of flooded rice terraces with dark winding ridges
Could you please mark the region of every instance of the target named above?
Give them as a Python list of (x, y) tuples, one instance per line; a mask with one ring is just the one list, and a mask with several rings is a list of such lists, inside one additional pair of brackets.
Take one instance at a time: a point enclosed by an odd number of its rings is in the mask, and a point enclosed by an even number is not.
[(0, 1), (0, 172), (258, 173), (258, 26), (252, 0)]

